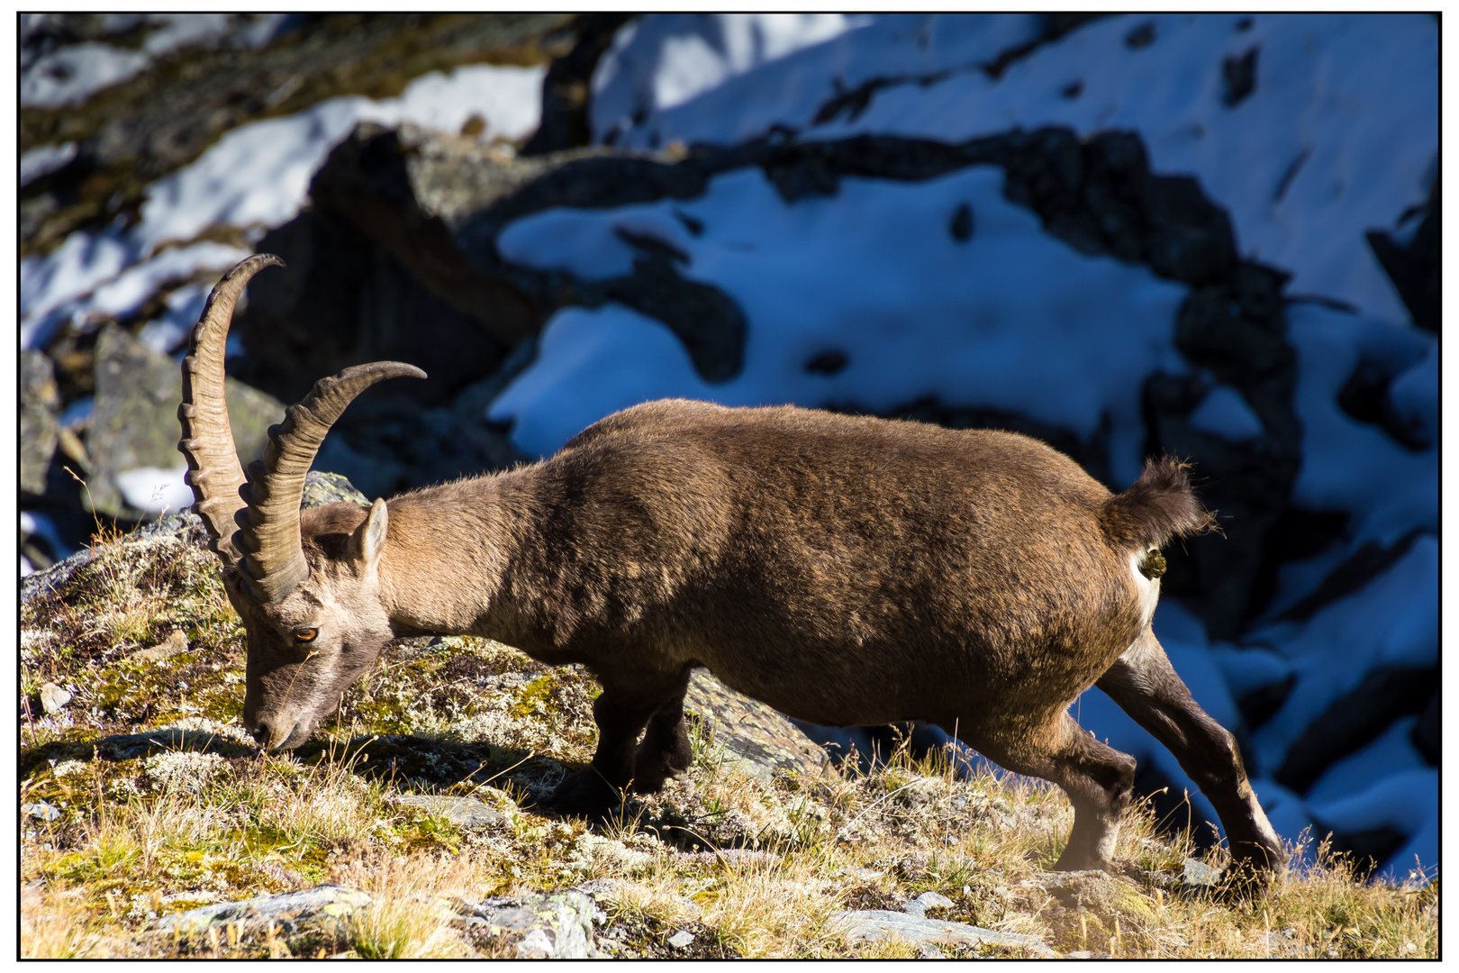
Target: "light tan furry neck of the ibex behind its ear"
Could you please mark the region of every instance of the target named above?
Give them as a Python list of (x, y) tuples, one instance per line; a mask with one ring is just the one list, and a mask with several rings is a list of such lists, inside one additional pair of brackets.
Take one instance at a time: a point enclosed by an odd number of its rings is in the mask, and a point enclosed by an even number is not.
[(512, 556), (502, 502), (500, 477), (446, 483), (390, 502), (379, 588), (392, 621), (438, 635), (484, 630)]

